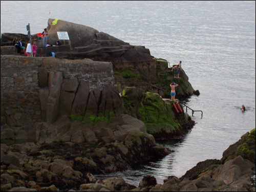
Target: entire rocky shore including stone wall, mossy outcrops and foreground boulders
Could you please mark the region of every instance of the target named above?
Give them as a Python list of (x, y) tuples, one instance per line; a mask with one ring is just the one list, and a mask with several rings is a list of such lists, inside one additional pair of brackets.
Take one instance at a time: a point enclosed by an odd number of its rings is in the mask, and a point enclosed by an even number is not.
[[(139, 186), (123, 178), (97, 180), (93, 175), (163, 158), (171, 152), (156, 140), (183, 137), (193, 127), (189, 115), (178, 114), (176, 101), (168, 99), (170, 82), (179, 84), (179, 98), (200, 93), (183, 70), (174, 79), (167, 60), (151, 56), (143, 46), (62, 20), (52, 26), (52, 21), (48, 21), (51, 44), (57, 31), (72, 34), (61, 46), (40, 48), (37, 57), (20, 56), (14, 46), (1, 46), (1, 191), (255, 187), (248, 185), (249, 175), (255, 174), (255, 129), (221, 160), (200, 162), (182, 178), (170, 176), (157, 184), (154, 176), (146, 176)], [(24, 37), (27, 45), (24, 34), (2, 34), (1, 42), (14, 36)], [(32, 39), (38, 47), (42, 44), (38, 35)], [(49, 51), (56, 52), (56, 58), (45, 57)], [(27, 142), (4, 143), (20, 139)]]

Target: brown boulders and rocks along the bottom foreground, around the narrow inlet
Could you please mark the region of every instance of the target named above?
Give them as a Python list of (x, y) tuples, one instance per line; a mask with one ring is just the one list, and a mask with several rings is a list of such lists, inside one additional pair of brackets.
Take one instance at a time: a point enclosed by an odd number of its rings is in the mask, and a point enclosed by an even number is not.
[[(199, 162), (181, 178), (169, 176), (163, 184), (158, 184), (154, 176), (145, 176), (139, 186), (121, 177), (97, 180), (93, 176), (168, 153), (154, 143), (135, 150), (137, 142), (151, 141), (130, 137), (125, 145), (1, 143), (1, 191), (255, 191), (255, 129), (230, 145), (221, 160)], [(162, 148), (162, 152), (154, 148)]]

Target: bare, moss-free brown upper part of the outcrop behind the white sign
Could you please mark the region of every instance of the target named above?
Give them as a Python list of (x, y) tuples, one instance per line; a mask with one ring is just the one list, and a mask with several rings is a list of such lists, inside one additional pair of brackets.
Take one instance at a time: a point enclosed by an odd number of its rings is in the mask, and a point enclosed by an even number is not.
[(147, 81), (156, 81), (154, 57), (150, 50), (143, 46), (131, 46), (129, 43), (117, 39), (109, 34), (97, 30), (54, 19), (48, 20), (49, 44), (56, 44), (58, 31), (67, 31), (70, 40), (60, 40), (62, 44), (69, 44), (73, 51), (57, 52), (58, 58), (91, 58), (98, 61), (110, 61), (115, 71), (130, 69), (135, 74), (142, 75)]

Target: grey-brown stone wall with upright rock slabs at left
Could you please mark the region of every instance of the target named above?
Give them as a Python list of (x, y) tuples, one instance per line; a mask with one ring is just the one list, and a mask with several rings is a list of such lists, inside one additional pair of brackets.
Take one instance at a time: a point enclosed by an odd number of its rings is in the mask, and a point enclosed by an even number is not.
[(1, 124), (53, 123), (64, 114), (98, 113), (100, 105), (108, 106), (104, 95), (121, 103), (113, 84), (110, 62), (1, 55)]

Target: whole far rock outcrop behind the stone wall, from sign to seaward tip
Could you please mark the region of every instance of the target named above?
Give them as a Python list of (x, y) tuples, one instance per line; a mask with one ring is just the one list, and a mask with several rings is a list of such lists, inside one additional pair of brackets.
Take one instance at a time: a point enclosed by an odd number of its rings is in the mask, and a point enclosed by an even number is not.
[[(60, 40), (62, 45), (48, 47), (37, 50), (37, 55), (46, 56), (48, 52), (55, 52), (56, 58), (66, 59), (84, 59), (90, 58), (97, 61), (112, 62), (115, 82), (146, 82), (155, 84), (157, 87), (169, 92), (169, 83), (178, 81), (181, 84), (177, 88), (177, 97), (188, 97), (190, 95), (199, 95), (188, 82), (188, 77), (181, 71), (182, 78), (174, 79), (172, 72), (168, 68), (168, 63), (164, 59), (154, 58), (150, 50), (143, 46), (132, 46), (127, 42), (117, 39), (109, 34), (99, 32), (93, 28), (78, 25), (63, 20), (58, 20), (56, 25), (52, 25), (54, 19), (48, 20), (48, 44), (56, 45), (58, 31), (66, 31), (70, 40)], [(2, 41), (11, 41), (16, 34), (5, 34)], [(24, 35), (26, 36), (26, 35)], [(37, 35), (32, 35), (41, 47), (42, 40)], [(25, 44), (27, 40), (25, 39)], [(10, 54), (10, 50), (1, 48), (1, 54)], [(148, 86), (150, 88), (150, 86)], [(161, 96), (169, 95), (154, 90), (154, 93)]]

